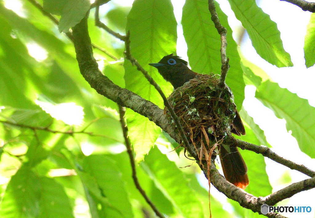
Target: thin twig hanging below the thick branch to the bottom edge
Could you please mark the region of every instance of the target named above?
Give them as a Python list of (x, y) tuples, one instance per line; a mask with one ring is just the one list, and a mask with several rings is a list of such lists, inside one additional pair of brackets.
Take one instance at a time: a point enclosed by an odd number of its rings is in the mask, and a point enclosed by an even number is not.
[(164, 215), (156, 208), (156, 206), (152, 203), (150, 198), (146, 195), (146, 192), (140, 186), (140, 183), (139, 183), (139, 180), (137, 177), (137, 172), (136, 172), (135, 159), (134, 159), (134, 155), (132, 152), (131, 143), (130, 143), (130, 140), (128, 138), (128, 127), (127, 127), (127, 123), (125, 122), (125, 118), (124, 118), (125, 113), (126, 113), (126, 108), (124, 108), (120, 105), (118, 105), (118, 107), (119, 107), (120, 124), (121, 124), (121, 128), (123, 129), (123, 137), (125, 138), (127, 153), (129, 155), (131, 169), (132, 169), (132, 179), (134, 180), (135, 186), (140, 191), (140, 193), (144, 197), (144, 199), (146, 199), (146, 202), (150, 205), (150, 207), (153, 209), (155, 214), (160, 218), (165, 218)]

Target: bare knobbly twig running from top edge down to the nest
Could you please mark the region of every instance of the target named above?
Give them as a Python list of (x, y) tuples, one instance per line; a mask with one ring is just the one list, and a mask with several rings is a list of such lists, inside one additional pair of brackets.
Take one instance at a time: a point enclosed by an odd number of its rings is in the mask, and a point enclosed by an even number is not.
[(218, 33), (221, 36), (221, 77), (220, 77), (220, 83), (218, 84), (219, 88), (221, 89), (221, 92), (219, 93), (219, 97), (222, 94), (222, 91), (225, 88), (225, 78), (227, 71), (230, 68), (229, 65), (229, 58), (226, 58), (226, 46), (227, 46), (227, 41), (226, 41), (226, 28), (223, 27), (220, 23), (219, 17), (215, 11), (215, 3), (213, 0), (208, 0), (208, 5), (209, 5), (209, 11), (211, 14), (211, 20), (215, 24), (215, 28), (217, 29)]

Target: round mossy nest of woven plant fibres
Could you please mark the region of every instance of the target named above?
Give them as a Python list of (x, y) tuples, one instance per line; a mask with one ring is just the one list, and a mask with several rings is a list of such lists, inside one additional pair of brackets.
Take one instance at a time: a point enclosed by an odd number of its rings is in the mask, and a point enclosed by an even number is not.
[[(218, 140), (231, 135), (231, 125), (236, 113), (232, 91), (228, 86), (219, 97), (217, 85), (220, 75), (198, 75), (177, 88), (168, 98), (187, 138), (197, 150), (202, 141), (211, 148)], [(168, 109), (164, 112), (174, 123)], [(204, 130), (203, 130), (204, 128)], [(205, 132), (209, 138), (206, 143)], [(208, 150), (208, 149), (207, 149)]]

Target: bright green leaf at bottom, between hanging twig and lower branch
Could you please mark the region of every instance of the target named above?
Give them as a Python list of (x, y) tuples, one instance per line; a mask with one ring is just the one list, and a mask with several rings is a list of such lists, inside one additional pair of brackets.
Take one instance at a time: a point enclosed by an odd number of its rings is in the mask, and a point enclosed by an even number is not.
[(148, 174), (180, 215), (187, 218), (204, 217), (202, 205), (183, 173), (157, 147), (150, 150), (141, 164), (148, 167)]

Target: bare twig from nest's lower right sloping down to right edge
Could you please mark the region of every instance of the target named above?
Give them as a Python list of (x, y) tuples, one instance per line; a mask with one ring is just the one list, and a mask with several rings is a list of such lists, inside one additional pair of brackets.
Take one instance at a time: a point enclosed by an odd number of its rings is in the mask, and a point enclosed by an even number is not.
[(244, 142), (242, 140), (236, 139), (234, 137), (226, 139), (227, 143), (234, 144), (235, 146), (238, 146), (242, 150), (251, 150), (256, 152), (257, 154), (261, 154), (265, 157), (268, 157), (269, 159), (280, 163), (290, 169), (295, 169), (309, 177), (314, 177), (315, 176), (315, 171), (305, 167), (304, 165), (297, 164), (295, 162), (292, 162), (290, 160), (287, 160), (279, 155), (277, 155), (275, 152), (270, 150), (270, 148), (263, 147), (263, 146), (258, 146), (249, 142)]

